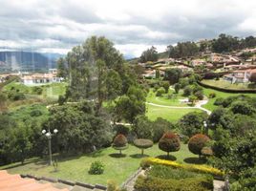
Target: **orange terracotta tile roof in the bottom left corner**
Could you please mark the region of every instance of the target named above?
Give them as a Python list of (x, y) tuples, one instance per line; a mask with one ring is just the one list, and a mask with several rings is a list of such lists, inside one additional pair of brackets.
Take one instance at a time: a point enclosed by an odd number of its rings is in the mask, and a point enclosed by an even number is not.
[(51, 183), (39, 183), (32, 179), (23, 179), (19, 175), (10, 175), (7, 171), (0, 171), (1, 191), (68, 191), (68, 189), (58, 189)]

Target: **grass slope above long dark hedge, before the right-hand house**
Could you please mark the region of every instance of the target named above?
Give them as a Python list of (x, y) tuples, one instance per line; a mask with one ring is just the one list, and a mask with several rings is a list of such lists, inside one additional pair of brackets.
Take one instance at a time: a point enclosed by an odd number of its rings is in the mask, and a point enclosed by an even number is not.
[(215, 79), (203, 79), (202, 83), (210, 85), (210, 86), (215, 86), (215, 87), (220, 87), (224, 89), (232, 89), (232, 90), (247, 90), (247, 89), (255, 89), (254, 84), (250, 83), (234, 83), (232, 84), (231, 82), (220, 79), (220, 80), (215, 80)]

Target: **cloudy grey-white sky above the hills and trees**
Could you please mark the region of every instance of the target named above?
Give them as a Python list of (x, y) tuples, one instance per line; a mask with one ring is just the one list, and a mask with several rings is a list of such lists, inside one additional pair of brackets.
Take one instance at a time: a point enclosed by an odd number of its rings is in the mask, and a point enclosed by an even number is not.
[(104, 35), (134, 57), (220, 33), (256, 36), (256, 1), (0, 0), (0, 50), (68, 53)]

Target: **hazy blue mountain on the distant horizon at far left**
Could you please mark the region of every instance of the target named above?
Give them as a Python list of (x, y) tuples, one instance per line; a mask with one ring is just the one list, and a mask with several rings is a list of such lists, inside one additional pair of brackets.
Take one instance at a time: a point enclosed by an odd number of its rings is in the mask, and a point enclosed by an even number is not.
[(56, 68), (58, 53), (0, 52), (0, 72), (39, 72)]

